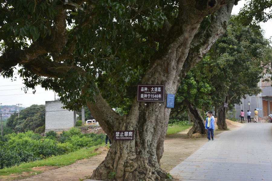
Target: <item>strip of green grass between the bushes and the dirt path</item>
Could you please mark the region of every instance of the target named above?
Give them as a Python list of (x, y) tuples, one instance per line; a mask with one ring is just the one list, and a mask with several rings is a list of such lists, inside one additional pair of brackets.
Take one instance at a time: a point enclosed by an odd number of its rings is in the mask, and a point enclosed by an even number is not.
[[(84, 158), (90, 158), (95, 155), (98, 155), (99, 153), (92, 152), (96, 147), (104, 146), (105, 144), (100, 144), (91, 148), (87, 149), (80, 149), (78, 151), (74, 151), (68, 154), (60, 155), (60, 156), (53, 156), (50, 158), (46, 158), (44, 160), (38, 160), (30, 163), (22, 163), (19, 166), (16, 167), (9, 167), (4, 168), (0, 170), (0, 179), (3, 177), (1, 176), (8, 176), (10, 174), (17, 174), (20, 175), (22, 172), (31, 172), (32, 174), (29, 174), (28, 176), (35, 175), (35, 173), (39, 174), (41, 171), (35, 171), (33, 167), (42, 167), (42, 166), (55, 166), (55, 167), (63, 167), (70, 164), (75, 163), (77, 160), (81, 160)], [(22, 169), (20, 169), (22, 168)], [(23, 177), (21, 177), (23, 178)], [(20, 179), (21, 179), (20, 178)], [(18, 179), (18, 178), (14, 178)]]

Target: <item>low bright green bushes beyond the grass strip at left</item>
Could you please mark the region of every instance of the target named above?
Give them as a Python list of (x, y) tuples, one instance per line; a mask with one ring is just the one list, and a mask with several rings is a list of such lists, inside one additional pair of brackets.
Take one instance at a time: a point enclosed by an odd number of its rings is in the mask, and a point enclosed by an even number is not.
[(76, 128), (63, 131), (60, 135), (50, 131), (46, 137), (33, 131), (0, 136), (0, 169), (96, 146), (102, 144), (105, 138), (105, 134), (82, 134)]

